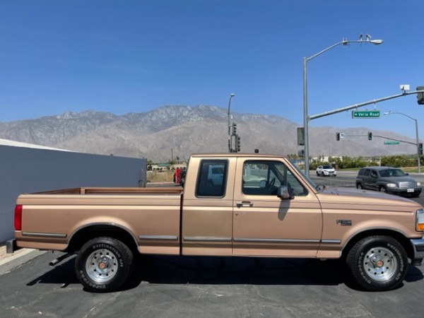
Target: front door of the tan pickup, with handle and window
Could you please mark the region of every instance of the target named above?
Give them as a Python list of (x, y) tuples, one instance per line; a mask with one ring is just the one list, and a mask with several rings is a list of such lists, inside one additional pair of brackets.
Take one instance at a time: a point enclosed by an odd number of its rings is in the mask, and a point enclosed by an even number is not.
[[(233, 254), (316, 256), (322, 211), (295, 167), (274, 159), (238, 158), (235, 180), (240, 183), (234, 191)], [(293, 199), (278, 198), (280, 185), (288, 187)]]

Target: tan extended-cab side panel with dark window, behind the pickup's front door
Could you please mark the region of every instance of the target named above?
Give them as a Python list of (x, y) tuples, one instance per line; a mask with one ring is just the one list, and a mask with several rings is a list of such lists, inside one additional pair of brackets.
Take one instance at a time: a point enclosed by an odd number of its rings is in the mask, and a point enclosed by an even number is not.
[(232, 254), (235, 163), (236, 158), (190, 159), (182, 201), (182, 254)]

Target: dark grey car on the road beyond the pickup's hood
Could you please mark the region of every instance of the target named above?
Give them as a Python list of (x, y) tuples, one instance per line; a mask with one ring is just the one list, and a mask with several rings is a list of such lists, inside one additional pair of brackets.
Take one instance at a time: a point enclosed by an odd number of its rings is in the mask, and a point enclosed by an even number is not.
[(419, 196), (421, 193), (420, 182), (395, 167), (362, 168), (356, 177), (356, 187), (406, 196)]

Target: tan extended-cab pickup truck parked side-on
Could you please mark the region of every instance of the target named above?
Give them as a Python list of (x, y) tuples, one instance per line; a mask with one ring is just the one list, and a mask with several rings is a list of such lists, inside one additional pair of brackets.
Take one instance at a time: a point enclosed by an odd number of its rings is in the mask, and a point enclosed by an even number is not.
[(210, 153), (190, 157), (184, 187), (21, 194), (9, 245), (76, 254), (90, 291), (121, 288), (137, 253), (341, 259), (358, 287), (390, 290), (421, 264), (423, 233), (410, 199), (317, 186), (281, 155)]

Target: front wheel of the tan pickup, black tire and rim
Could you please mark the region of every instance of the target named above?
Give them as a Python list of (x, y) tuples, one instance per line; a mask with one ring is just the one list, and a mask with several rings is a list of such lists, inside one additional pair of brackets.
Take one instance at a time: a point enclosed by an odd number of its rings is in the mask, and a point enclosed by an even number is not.
[(355, 283), (366, 290), (391, 290), (404, 280), (408, 257), (393, 237), (371, 236), (353, 245), (346, 264)]

